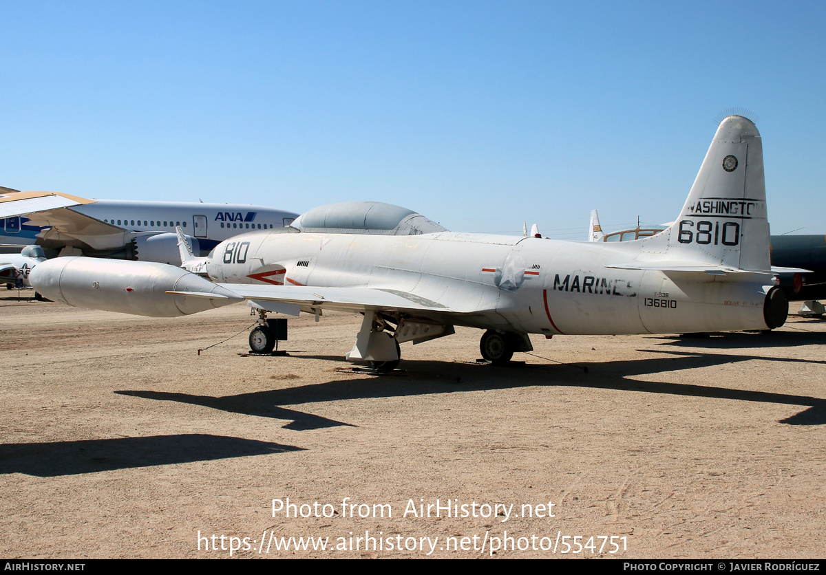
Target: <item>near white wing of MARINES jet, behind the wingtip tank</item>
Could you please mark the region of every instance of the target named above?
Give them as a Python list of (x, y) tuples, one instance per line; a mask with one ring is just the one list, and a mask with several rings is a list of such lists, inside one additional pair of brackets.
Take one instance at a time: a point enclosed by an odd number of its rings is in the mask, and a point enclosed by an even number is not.
[[(263, 309), (292, 315), (298, 315), (299, 309), (310, 311), (317, 308), (350, 312), (381, 310), (425, 317), (466, 314), (430, 299), (398, 290), (311, 285), (218, 285), (249, 299)], [(473, 312), (475, 313), (479, 313), (479, 310)]]

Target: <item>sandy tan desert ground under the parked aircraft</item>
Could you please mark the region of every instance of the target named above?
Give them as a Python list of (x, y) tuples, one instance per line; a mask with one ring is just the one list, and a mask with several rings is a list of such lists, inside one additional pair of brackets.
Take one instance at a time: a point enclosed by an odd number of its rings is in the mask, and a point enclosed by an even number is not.
[(0, 317), (7, 558), (826, 549), (823, 321), (535, 337), (510, 367), (473, 365), (481, 332), (458, 329), (376, 377), (346, 371), (353, 314), (291, 319), (283, 357), (240, 355), (243, 305), (152, 319), (4, 297)]

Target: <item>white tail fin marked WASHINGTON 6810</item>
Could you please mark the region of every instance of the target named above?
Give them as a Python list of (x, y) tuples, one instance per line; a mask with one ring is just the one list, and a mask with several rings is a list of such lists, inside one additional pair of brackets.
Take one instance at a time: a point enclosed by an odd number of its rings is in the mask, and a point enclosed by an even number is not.
[(638, 261), (655, 259), (769, 273), (763, 147), (751, 120), (720, 122), (680, 217), (643, 240)]

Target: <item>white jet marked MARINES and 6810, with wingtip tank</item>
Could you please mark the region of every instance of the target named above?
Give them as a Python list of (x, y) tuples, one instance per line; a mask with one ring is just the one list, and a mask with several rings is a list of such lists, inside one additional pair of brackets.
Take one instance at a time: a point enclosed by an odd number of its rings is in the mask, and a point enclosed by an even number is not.
[(261, 318), (254, 351), (273, 347), (269, 312), (360, 312), (346, 357), (378, 370), (395, 368), (399, 343), (456, 325), (486, 330), (482, 356), (506, 363), (533, 349), (529, 333), (759, 330), (781, 326), (788, 311), (769, 266), (761, 137), (738, 115), (719, 125), (675, 223), (650, 238), (450, 233), (398, 206), (349, 202), (231, 238), (192, 263), (216, 283), (173, 266), (82, 257), (40, 264), (31, 281), (65, 304), (143, 315), (247, 299)]

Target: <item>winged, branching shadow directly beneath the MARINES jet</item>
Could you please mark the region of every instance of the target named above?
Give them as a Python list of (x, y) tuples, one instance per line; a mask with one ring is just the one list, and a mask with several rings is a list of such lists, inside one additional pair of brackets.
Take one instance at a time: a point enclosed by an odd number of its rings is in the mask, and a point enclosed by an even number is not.
[[(284, 389), (269, 389), (220, 398), (150, 390), (116, 391), (115, 393), (158, 401), (201, 405), (225, 412), (256, 417), (288, 419), (292, 422), (283, 427), (297, 431), (319, 429), (321, 427), (350, 426), (352, 424), (279, 406), (335, 402), (348, 399), (461, 393), (483, 389), (515, 389), (534, 385), (618, 389), (636, 393), (673, 394), (809, 406), (804, 412), (788, 417), (781, 422), (791, 425), (823, 425), (826, 423), (826, 399), (822, 398), (748, 389), (730, 389), (714, 385), (717, 383), (715, 381), (710, 381), (708, 385), (697, 385), (634, 379), (634, 376), (637, 375), (693, 370), (749, 360), (780, 363), (803, 362), (818, 365), (824, 365), (826, 361), (771, 358), (746, 354), (704, 353), (702, 351), (640, 351), (657, 354), (665, 353), (667, 357), (627, 361), (583, 362), (577, 365), (525, 365), (523, 369), (518, 369), (518, 366), (497, 367), (440, 361), (403, 361), (401, 366), (407, 370), (406, 376), (338, 379), (318, 384), (304, 384)], [(307, 359), (311, 358), (307, 356)], [(337, 357), (335, 360), (340, 361), (340, 358)], [(349, 365), (344, 361), (341, 361), (341, 363)]]

